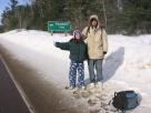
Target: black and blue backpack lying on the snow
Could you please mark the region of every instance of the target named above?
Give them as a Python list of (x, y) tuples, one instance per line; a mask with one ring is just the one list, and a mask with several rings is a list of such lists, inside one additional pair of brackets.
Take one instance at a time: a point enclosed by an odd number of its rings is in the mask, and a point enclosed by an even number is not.
[(138, 94), (134, 91), (115, 92), (112, 105), (122, 112), (134, 109), (139, 105)]

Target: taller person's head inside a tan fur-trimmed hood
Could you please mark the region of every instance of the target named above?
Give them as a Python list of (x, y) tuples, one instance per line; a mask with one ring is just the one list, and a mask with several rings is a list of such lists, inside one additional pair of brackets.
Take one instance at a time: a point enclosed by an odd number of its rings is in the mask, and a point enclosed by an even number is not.
[(90, 19), (89, 19), (89, 24), (90, 24), (91, 27), (95, 27), (95, 28), (99, 25), (99, 18), (98, 18), (97, 14), (92, 14), (92, 16), (90, 17)]

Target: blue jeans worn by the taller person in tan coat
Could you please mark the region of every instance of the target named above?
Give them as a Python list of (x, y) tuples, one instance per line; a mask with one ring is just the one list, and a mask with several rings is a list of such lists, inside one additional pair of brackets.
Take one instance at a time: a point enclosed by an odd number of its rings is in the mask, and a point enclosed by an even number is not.
[(89, 65), (90, 83), (101, 82), (103, 80), (102, 61), (103, 61), (102, 59), (98, 59), (98, 60), (89, 59), (88, 65)]

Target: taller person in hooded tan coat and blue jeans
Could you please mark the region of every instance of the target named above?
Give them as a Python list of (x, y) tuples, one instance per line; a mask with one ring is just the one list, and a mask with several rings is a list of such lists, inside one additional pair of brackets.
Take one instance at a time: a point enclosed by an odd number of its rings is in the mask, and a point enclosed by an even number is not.
[(88, 44), (90, 86), (94, 86), (95, 83), (101, 85), (103, 81), (102, 62), (108, 52), (108, 38), (98, 16), (90, 17), (89, 25), (83, 29), (82, 34)]

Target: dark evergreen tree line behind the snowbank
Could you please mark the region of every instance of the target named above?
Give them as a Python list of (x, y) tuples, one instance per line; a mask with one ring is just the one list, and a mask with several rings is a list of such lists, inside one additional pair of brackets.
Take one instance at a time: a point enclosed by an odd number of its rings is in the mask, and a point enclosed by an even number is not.
[(73, 29), (88, 25), (98, 14), (108, 33), (151, 33), (150, 0), (30, 0), (19, 6), (10, 0), (2, 13), (0, 31), (13, 29), (47, 30), (48, 21), (71, 21)]

